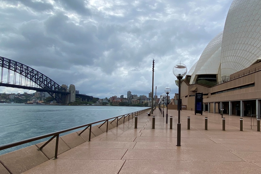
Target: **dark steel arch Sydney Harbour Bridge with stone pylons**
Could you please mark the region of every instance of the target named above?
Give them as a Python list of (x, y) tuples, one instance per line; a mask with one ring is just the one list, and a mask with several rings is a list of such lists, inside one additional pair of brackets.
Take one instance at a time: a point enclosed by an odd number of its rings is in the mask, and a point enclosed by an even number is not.
[(76, 94), (74, 85), (70, 85), (67, 89), (67, 85), (60, 86), (39, 71), (17, 61), (0, 57), (0, 64), (2, 67), (0, 86), (47, 92), (57, 103), (64, 104), (75, 101), (75, 98), (81, 98), (81, 101), (90, 101), (93, 98)]

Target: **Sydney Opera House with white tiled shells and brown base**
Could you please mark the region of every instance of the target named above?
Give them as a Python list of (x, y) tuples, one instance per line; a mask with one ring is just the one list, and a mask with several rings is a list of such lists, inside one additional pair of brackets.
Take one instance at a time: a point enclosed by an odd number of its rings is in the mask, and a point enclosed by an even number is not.
[(194, 110), (196, 93), (203, 93), (205, 112), (261, 114), (260, 0), (232, 2), (224, 30), (181, 82), (180, 97), (187, 110)]

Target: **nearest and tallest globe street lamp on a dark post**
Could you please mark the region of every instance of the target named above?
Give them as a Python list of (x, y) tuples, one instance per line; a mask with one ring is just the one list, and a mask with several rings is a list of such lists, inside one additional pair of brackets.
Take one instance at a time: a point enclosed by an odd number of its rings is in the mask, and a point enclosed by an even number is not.
[(173, 74), (179, 80), (179, 99), (178, 99), (178, 123), (177, 123), (177, 146), (180, 146), (181, 124), (180, 124), (180, 80), (187, 74), (187, 67), (178, 63), (173, 67)]

